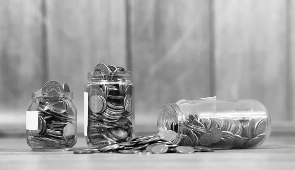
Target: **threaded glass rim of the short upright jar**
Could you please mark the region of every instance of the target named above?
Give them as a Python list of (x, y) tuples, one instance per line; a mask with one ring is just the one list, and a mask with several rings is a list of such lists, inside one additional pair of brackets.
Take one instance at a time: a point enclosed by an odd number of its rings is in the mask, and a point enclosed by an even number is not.
[(33, 92), (31, 98), (33, 100), (38, 99), (50, 99), (50, 100), (59, 100), (59, 99), (67, 99), (72, 100), (74, 98), (73, 92), (42, 92), (37, 91)]

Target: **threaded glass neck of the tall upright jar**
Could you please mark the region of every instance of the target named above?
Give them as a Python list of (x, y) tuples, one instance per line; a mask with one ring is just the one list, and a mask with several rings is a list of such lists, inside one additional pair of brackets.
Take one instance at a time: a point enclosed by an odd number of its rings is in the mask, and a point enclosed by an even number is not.
[(132, 83), (132, 74), (130, 71), (119, 71), (117, 73), (105, 73), (94, 71), (88, 73), (89, 82), (127, 82)]

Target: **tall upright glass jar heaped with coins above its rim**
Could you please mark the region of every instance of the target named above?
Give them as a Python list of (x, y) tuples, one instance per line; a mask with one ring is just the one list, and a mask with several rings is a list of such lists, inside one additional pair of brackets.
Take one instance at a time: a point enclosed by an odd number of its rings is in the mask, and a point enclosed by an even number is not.
[(98, 64), (84, 92), (84, 135), (90, 148), (125, 142), (134, 134), (131, 72)]

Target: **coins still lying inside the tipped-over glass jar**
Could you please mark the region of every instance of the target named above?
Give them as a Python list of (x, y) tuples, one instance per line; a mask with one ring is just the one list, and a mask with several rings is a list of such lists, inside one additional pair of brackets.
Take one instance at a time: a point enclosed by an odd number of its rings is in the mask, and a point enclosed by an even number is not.
[[(177, 132), (177, 120), (168, 121), (167, 127)], [(190, 114), (179, 145), (211, 148), (254, 147), (265, 139), (265, 131), (266, 119), (255, 123), (254, 118), (200, 118), (197, 114)]]

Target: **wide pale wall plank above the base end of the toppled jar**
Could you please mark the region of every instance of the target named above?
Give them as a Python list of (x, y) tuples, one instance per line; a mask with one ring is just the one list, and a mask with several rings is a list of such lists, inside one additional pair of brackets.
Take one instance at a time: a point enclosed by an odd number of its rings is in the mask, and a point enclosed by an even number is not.
[(286, 1), (214, 1), (216, 93), (257, 99), (287, 120)]

